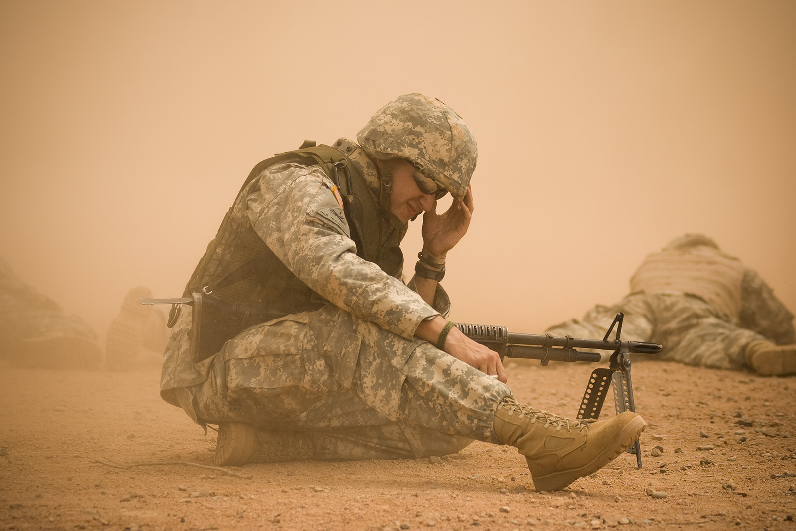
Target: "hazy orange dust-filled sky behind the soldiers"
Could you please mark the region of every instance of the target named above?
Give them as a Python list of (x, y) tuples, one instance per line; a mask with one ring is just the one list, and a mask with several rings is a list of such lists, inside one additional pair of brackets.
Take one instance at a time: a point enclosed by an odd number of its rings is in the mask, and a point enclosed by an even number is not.
[(794, 57), (788, 0), (6, 0), (0, 256), (103, 335), (181, 295), (256, 162), (423, 92), (478, 140), (451, 318), (538, 333), (683, 232), (796, 310)]

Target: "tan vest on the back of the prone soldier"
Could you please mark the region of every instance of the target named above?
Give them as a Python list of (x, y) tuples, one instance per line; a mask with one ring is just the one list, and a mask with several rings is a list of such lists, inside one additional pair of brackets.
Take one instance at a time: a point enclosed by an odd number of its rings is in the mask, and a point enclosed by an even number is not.
[(709, 248), (657, 252), (647, 256), (630, 279), (630, 291), (677, 291), (696, 295), (738, 322), (745, 267)]

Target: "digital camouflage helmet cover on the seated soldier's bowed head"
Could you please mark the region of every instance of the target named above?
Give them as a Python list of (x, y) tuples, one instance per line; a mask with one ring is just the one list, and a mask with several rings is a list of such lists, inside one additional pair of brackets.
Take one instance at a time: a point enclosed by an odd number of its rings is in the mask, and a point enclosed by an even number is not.
[(373, 158), (405, 158), (461, 200), (478, 158), (462, 118), (445, 103), (417, 92), (398, 96), (357, 133)]

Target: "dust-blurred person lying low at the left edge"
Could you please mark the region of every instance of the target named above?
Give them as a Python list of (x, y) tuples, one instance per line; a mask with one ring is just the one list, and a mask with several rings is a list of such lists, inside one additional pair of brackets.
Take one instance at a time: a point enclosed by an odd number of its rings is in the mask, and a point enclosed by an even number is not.
[(91, 326), (22, 282), (0, 259), (0, 357), (28, 369), (97, 369), (102, 349)]

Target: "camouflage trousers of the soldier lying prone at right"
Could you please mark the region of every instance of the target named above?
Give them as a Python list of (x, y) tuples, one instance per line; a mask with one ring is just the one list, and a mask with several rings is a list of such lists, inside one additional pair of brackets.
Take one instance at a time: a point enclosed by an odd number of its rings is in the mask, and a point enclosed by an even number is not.
[(703, 299), (680, 293), (634, 293), (614, 306), (595, 306), (583, 320), (571, 319), (552, 326), (547, 333), (602, 339), (619, 311), (625, 314), (622, 339), (661, 343), (663, 350), (656, 359), (712, 369), (743, 369), (747, 346), (767, 341), (720, 317)]

